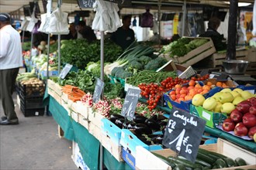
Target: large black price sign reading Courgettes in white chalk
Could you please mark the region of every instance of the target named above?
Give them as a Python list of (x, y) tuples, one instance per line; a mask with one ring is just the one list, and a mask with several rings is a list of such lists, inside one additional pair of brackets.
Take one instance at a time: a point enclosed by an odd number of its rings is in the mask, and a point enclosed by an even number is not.
[(173, 107), (162, 144), (195, 162), (205, 125), (205, 120)]

